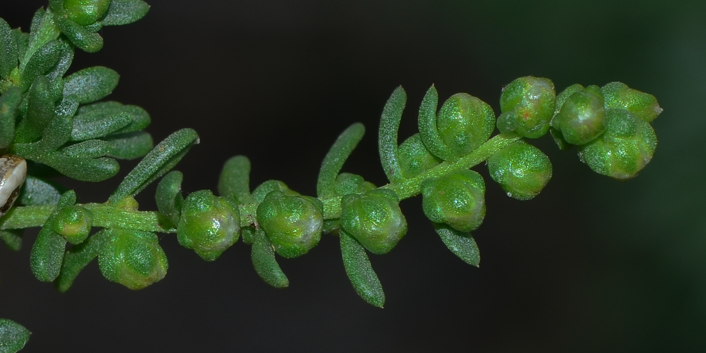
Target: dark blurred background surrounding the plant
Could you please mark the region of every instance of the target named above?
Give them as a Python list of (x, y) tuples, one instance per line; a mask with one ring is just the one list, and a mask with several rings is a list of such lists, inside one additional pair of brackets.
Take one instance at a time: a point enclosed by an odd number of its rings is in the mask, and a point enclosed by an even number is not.
[[(121, 73), (109, 99), (145, 107), (157, 141), (200, 133), (177, 167), (187, 193), (215, 189), (222, 163), (244, 154), (253, 187), (282, 179), (313, 195), (328, 146), (355, 121), (369, 134), (344, 170), (385, 184), (376, 131), (397, 85), (401, 141), (432, 83), (441, 100), (468, 92), (499, 112), (520, 76), (557, 90), (619, 80), (657, 96), (659, 146), (618, 182), (549, 136), (532, 141), (554, 164), (532, 201), (475, 168), (487, 185), (481, 268), (445, 249), (419, 198), (402, 202), (407, 236), (371, 256), (385, 309), (357, 297), (335, 237), (280, 261), (284, 290), (259, 279), (241, 242), (205, 263), (164, 234), (169, 275), (156, 285), (132, 292), (92, 263), (59, 294), (32, 276), (27, 232), (20, 253), (0, 249), (0, 317), (32, 330), (26, 352), (706, 352), (705, 1), (148, 2), (143, 20), (102, 30), (101, 52), (77, 52), (71, 72)], [(45, 3), (4, 0), (0, 16), (28, 30)], [(70, 185), (100, 202), (118, 182)], [(155, 209), (153, 195), (141, 208)]]

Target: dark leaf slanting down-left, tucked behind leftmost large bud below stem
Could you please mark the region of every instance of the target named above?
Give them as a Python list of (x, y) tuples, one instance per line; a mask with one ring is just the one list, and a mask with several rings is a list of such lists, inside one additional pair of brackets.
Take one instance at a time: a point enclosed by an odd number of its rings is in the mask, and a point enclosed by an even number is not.
[(72, 246), (71, 249), (64, 253), (61, 273), (54, 281), (54, 285), (59, 292), (66, 292), (73, 285), (73, 280), (76, 280), (81, 270), (98, 256), (101, 246), (109, 237), (109, 229), (103, 229), (86, 239), (83, 243)]

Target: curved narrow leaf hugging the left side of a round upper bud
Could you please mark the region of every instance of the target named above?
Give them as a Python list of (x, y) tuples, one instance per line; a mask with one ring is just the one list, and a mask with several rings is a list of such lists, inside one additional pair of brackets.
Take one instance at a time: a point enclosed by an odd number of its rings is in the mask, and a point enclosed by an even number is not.
[(442, 160), (454, 161), (458, 157), (443, 143), (436, 128), (438, 99), (436, 88), (431, 85), (419, 106), (419, 120), (417, 121), (417, 124), (419, 124), (419, 137), (421, 137), (421, 141), (431, 154)]

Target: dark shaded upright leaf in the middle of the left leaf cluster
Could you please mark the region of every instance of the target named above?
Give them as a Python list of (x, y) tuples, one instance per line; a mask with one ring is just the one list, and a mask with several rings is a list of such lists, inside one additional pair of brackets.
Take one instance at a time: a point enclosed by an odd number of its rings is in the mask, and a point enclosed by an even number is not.
[(27, 116), (17, 126), (15, 142), (34, 142), (42, 136), (42, 132), (53, 119), (54, 100), (52, 92), (49, 91), (49, 80), (39, 76), (32, 83), (28, 94)]

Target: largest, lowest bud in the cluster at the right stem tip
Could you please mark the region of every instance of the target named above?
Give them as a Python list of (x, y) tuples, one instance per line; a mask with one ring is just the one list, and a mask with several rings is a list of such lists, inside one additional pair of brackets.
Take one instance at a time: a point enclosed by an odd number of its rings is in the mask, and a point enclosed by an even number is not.
[(652, 160), (655, 148), (657, 136), (650, 124), (627, 109), (608, 109), (606, 131), (581, 146), (579, 157), (598, 174), (628, 180)]

